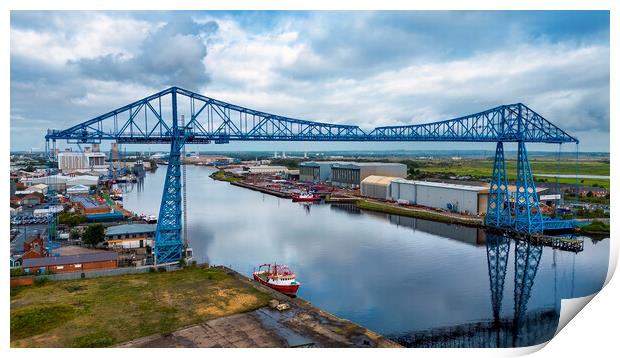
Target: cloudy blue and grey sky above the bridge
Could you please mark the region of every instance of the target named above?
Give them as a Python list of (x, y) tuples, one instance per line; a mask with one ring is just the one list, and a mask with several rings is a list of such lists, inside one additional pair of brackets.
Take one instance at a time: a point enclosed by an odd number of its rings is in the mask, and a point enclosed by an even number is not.
[[(47, 128), (176, 85), (363, 129), (523, 102), (578, 137), (580, 150), (608, 151), (609, 67), (608, 12), (13, 11), (11, 149), (42, 149)], [(368, 144), (201, 149), (315, 147)]]

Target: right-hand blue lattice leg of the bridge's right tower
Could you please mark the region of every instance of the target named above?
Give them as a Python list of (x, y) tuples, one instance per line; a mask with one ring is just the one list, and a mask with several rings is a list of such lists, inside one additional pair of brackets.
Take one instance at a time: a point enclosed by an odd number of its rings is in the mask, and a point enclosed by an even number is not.
[(528, 234), (542, 233), (544, 229), (532, 168), (523, 142), (519, 142), (517, 156), (517, 190), (513, 228), (518, 232)]

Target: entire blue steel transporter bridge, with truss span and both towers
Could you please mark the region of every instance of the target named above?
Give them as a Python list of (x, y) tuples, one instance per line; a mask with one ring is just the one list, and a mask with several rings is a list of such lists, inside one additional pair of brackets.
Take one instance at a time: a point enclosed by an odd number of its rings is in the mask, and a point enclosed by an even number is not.
[[(189, 120), (182, 124), (180, 115)], [(340, 141), (340, 142), (494, 142), (495, 164), (486, 224), (522, 233), (540, 233), (545, 225), (525, 143), (578, 143), (578, 140), (522, 103), (501, 105), (479, 113), (440, 122), (377, 127), (322, 123), (257, 111), (170, 87), (126, 106), (64, 130), (48, 130), (46, 148), (57, 140), (68, 143), (116, 141), (127, 144), (170, 145), (170, 159), (155, 239), (158, 263), (175, 262), (182, 255), (181, 151), (187, 144), (230, 141)], [(51, 143), (50, 143), (51, 142)], [(504, 142), (518, 143), (514, 209), (506, 178)]]

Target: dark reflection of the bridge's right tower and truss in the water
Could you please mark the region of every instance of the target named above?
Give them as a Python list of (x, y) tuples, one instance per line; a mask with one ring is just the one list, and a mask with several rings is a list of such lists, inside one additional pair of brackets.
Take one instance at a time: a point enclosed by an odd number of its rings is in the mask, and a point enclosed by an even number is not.
[[(512, 243), (515, 248), (514, 309), (511, 317), (501, 317), (504, 283)], [(555, 307), (527, 312), (543, 246), (487, 233), (486, 250), (492, 320), (411, 332), (392, 338), (408, 347), (521, 347), (551, 339), (559, 318)], [(557, 297), (554, 299), (557, 300)]]

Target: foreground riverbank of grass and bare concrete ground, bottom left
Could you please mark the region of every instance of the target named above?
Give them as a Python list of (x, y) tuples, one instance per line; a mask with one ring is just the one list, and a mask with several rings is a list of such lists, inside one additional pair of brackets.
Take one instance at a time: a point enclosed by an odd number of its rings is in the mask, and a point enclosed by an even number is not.
[[(272, 308), (274, 300), (288, 308)], [(227, 331), (231, 327), (234, 334)], [(224, 267), (11, 289), (12, 347), (287, 347), (296, 342), (398, 346)]]

